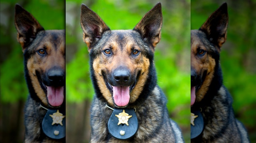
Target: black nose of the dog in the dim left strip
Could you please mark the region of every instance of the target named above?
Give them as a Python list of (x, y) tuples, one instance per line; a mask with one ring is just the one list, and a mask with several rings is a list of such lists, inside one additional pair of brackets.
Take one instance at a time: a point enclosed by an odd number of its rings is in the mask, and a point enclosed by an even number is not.
[(47, 78), (50, 86), (64, 86), (65, 73), (62, 69), (53, 68), (47, 72)]

